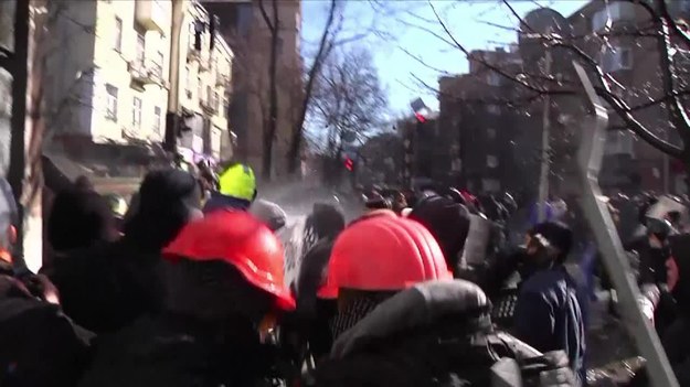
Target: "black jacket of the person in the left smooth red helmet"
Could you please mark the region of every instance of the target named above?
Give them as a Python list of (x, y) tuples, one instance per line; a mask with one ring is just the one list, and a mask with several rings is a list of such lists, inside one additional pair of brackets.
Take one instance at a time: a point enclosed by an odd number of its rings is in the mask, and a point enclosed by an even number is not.
[(275, 353), (238, 320), (211, 325), (179, 314), (145, 316), (99, 341), (79, 386), (263, 386)]

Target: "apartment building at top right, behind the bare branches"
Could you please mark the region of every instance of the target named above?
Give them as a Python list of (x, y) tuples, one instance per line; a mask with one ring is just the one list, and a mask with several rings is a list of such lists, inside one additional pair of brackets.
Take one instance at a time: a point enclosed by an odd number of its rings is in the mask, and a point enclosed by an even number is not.
[[(690, 2), (669, 1), (668, 7), (672, 15), (686, 20), (690, 15)], [(593, 0), (567, 19), (576, 36), (574, 44), (597, 61), (605, 73), (612, 74), (618, 80), (619, 85), (613, 85), (613, 92), (629, 106), (638, 106), (649, 98), (661, 96), (656, 39), (641, 36), (640, 33), (651, 32), (654, 21), (643, 7), (625, 1)], [(601, 39), (584, 37), (595, 34), (607, 36), (606, 44)], [(676, 63), (686, 65), (682, 61)], [(676, 131), (669, 127), (668, 110), (664, 105), (638, 109), (635, 117), (660, 138), (679, 141)], [(625, 125), (613, 110), (609, 126), (617, 130), (609, 130), (607, 133), (601, 175), (605, 190), (687, 192), (684, 173), (673, 168), (670, 158), (631, 131), (619, 130)]]

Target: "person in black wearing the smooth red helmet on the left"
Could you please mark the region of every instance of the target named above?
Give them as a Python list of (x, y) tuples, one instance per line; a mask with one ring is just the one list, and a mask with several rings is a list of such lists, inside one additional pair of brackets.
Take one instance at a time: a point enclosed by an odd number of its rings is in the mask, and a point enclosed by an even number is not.
[(189, 224), (162, 252), (162, 311), (104, 340), (81, 386), (259, 385), (275, 364), (262, 334), (295, 309), (283, 254), (246, 212)]

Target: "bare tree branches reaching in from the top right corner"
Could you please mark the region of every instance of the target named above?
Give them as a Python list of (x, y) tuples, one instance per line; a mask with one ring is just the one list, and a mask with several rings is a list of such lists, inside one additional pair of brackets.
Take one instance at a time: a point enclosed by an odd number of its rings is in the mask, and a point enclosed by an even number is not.
[[(585, 65), (585, 68), (594, 75), (595, 89), (605, 100), (611, 111), (619, 118), (617, 129), (628, 129), (640, 139), (648, 142), (659, 151), (680, 160), (687, 170), (690, 170), (690, 120), (684, 107), (687, 96), (690, 94), (687, 77), (679, 76), (679, 71), (687, 68), (688, 52), (690, 51), (690, 35), (687, 25), (678, 22), (669, 11), (669, 6), (664, 0), (655, 0), (652, 3), (641, 0), (612, 0), (606, 6), (614, 3), (633, 3), (644, 10), (647, 18), (637, 20), (633, 29), (612, 29), (607, 25), (602, 32), (592, 32), (581, 36), (559, 36), (555, 34), (538, 34), (522, 20), (507, 0), (502, 4), (507, 7), (514, 18), (518, 19), (522, 31), (537, 35), (545, 49), (561, 50), (572, 54), (572, 57)], [(490, 63), (481, 57), (473, 56), (469, 50), (460, 43), (452, 33), (449, 26), (429, 2), (434, 11), (435, 20), (443, 33), (428, 30), (428, 32), (463, 52), (470, 61), (479, 63), (488, 72), (498, 74), (518, 89), (519, 99), (530, 103), (541, 99), (544, 95), (576, 95), (578, 83), (574, 76), (556, 76), (553, 73), (530, 72), (523, 69), (519, 74), (507, 72), (502, 66)], [(598, 45), (604, 50), (613, 50), (612, 41), (615, 37), (627, 36), (635, 41), (638, 46), (650, 50), (650, 55), (658, 57), (656, 76), (658, 82), (636, 87), (629, 79), (607, 73), (602, 68), (599, 58), (593, 55), (588, 46)], [(627, 82), (626, 82), (627, 80)], [(634, 100), (635, 103), (629, 103)], [(516, 99), (493, 103), (514, 104)], [(644, 111), (651, 108), (661, 108), (667, 112), (664, 119), (654, 121), (643, 118)], [(677, 133), (678, 142), (666, 138), (668, 131)]]

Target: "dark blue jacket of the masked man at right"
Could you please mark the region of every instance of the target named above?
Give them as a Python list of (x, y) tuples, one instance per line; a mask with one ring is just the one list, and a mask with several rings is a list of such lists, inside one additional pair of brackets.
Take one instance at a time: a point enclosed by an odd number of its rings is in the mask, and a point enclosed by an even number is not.
[(564, 351), (585, 380), (585, 326), (577, 286), (564, 267), (540, 270), (520, 287), (516, 336), (541, 352)]

